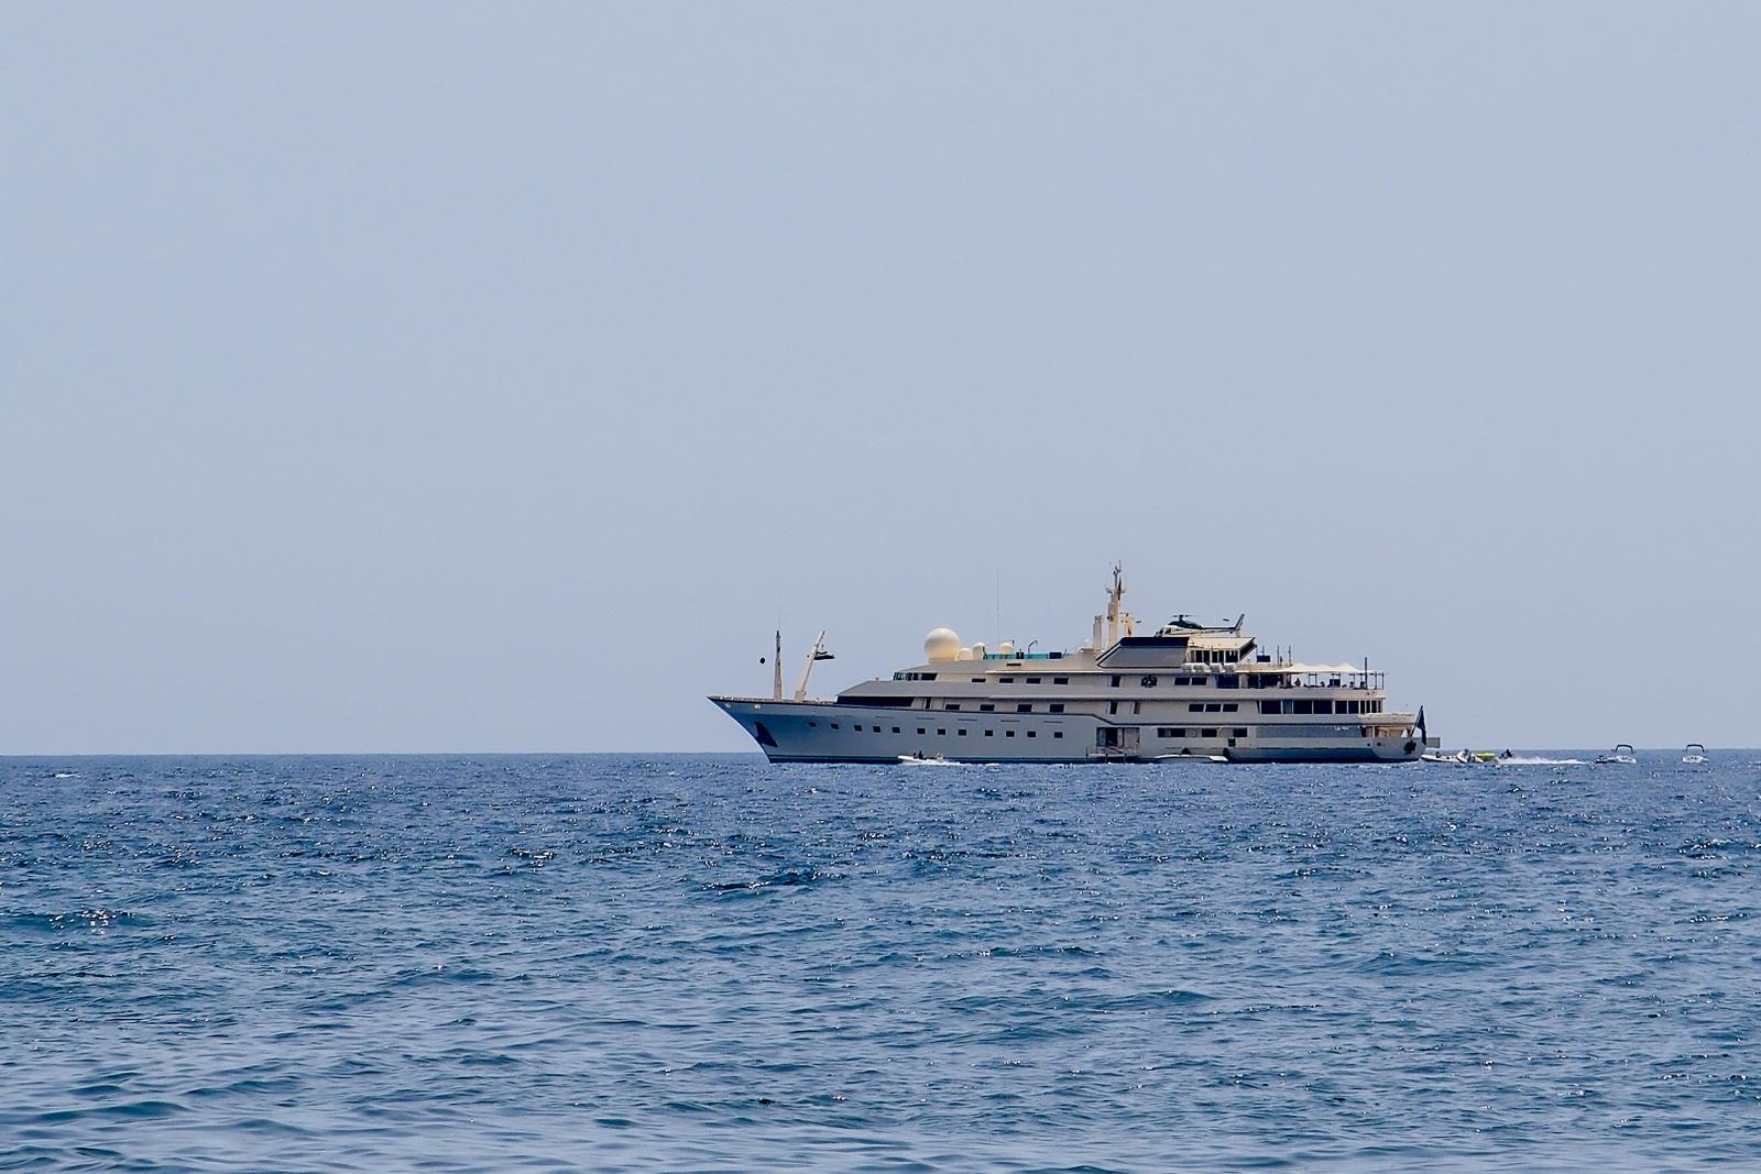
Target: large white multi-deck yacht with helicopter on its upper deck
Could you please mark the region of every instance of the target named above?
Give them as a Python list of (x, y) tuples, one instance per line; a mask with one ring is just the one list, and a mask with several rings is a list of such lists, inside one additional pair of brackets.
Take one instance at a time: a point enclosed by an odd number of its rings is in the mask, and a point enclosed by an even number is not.
[(1175, 616), (1139, 635), (1124, 597), (1115, 567), (1106, 614), (1074, 651), (967, 646), (935, 628), (923, 664), (810, 701), (814, 664), (831, 658), (821, 634), (792, 699), (775, 664), (770, 697), (710, 701), (773, 762), (1412, 762), (1437, 745), (1423, 708), (1388, 709), (1368, 660), (1268, 653), (1242, 630), (1245, 616), (1222, 627)]

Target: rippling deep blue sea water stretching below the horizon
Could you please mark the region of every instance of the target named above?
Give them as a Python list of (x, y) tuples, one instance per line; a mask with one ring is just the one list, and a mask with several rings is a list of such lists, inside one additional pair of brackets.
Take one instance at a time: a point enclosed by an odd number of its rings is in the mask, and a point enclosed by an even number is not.
[(1676, 757), (0, 759), (0, 1169), (1761, 1169)]

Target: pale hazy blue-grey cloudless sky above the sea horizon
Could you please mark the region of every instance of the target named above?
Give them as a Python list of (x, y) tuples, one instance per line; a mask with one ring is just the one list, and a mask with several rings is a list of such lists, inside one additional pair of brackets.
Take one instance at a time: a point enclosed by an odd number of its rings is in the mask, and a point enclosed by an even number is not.
[(7, 4), (0, 752), (750, 748), (939, 623), (1761, 743), (1761, 7)]

